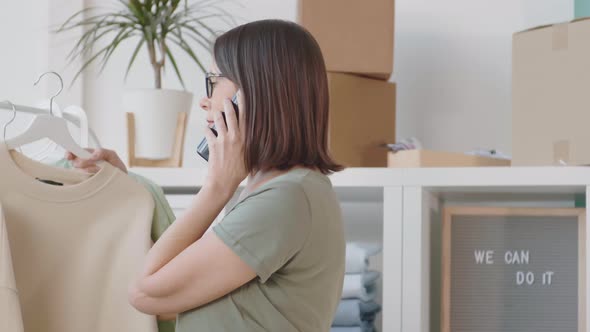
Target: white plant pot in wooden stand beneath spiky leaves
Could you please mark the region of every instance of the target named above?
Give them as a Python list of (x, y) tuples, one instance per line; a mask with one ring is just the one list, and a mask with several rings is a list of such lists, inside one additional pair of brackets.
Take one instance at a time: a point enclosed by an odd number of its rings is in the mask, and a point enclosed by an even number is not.
[(135, 155), (167, 159), (172, 155), (178, 113), (191, 110), (193, 95), (186, 91), (132, 89), (123, 94), (125, 112), (135, 117)]

